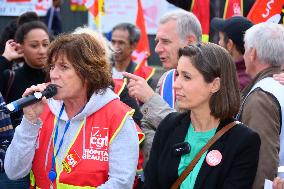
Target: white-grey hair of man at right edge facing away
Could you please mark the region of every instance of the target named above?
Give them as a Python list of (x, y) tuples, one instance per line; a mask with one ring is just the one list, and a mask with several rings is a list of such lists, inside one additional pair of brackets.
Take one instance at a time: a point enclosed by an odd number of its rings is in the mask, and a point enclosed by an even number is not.
[(284, 64), (284, 27), (264, 22), (248, 29), (244, 37), (246, 48), (255, 48), (257, 57), (272, 66)]

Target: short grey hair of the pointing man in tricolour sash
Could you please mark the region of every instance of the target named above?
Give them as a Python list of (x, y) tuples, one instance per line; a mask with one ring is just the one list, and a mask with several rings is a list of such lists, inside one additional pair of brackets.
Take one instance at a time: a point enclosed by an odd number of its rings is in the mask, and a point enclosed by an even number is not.
[(197, 42), (202, 41), (201, 24), (193, 13), (184, 10), (171, 11), (161, 17), (160, 24), (170, 20), (176, 20), (177, 32), (181, 40), (184, 41), (189, 35), (194, 35)]

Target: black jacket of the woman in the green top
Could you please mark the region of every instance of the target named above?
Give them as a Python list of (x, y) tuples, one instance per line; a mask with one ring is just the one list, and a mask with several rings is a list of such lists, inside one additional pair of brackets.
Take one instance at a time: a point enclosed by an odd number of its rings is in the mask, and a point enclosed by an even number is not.
[[(233, 119), (223, 120), (217, 131)], [(150, 159), (145, 168), (144, 188), (167, 189), (178, 178), (181, 156), (171, 152), (174, 144), (184, 142), (190, 124), (189, 113), (171, 113), (159, 125)], [(222, 161), (215, 167), (204, 160), (194, 189), (250, 189), (257, 170), (260, 138), (238, 124), (225, 133), (209, 150), (219, 150)]]

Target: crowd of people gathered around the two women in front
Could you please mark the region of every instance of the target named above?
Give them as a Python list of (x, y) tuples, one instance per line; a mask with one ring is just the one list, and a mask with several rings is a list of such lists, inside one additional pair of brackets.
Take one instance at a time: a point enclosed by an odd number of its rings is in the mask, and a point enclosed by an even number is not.
[[(108, 42), (47, 23), (25, 13), (1, 40), (0, 188), (283, 189), (283, 25), (213, 18), (219, 42), (203, 43), (193, 13), (168, 12), (154, 86), (155, 70), (131, 57), (135, 25)], [(51, 86), (53, 97), (2, 111)]]

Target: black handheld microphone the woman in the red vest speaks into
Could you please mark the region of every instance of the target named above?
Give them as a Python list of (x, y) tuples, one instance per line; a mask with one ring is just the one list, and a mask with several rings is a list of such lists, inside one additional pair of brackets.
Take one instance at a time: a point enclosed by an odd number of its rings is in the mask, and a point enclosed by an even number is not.
[(42, 92), (35, 92), (31, 95), (13, 101), (3, 107), (5, 113), (12, 113), (21, 110), (22, 108), (39, 102), (43, 97), (51, 98), (57, 93), (57, 85), (50, 84)]

